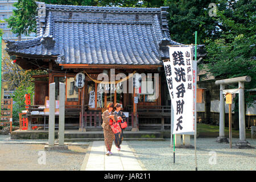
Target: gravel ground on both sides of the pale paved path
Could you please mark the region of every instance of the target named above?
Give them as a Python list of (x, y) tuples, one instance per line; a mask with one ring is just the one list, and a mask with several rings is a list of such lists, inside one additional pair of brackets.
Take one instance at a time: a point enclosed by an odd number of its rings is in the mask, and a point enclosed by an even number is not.
[[(38, 164), (39, 152), (44, 151), (44, 140), (30, 140), (38, 144), (16, 144), (21, 140), (10, 140), (8, 135), (0, 135), (1, 170), (80, 170), (88, 146), (69, 146), (68, 151), (46, 151), (46, 164)], [(238, 139), (233, 139), (233, 148), (228, 143), (217, 143), (216, 138), (197, 138), (198, 170), (256, 170), (256, 139), (246, 139), (250, 149), (234, 148)], [(27, 142), (23, 140), (22, 142)], [(2, 142), (2, 143), (1, 143)], [(159, 142), (130, 141), (136, 156), (147, 170), (195, 170), (195, 150), (175, 148), (170, 139)], [(191, 144), (194, 140), (191, 138)], [(74, 143), (75, 144), (75, 143)], [(214, 158), (215, 154), (215, 158)], [(214, 160), (216, 159), (216, 160)]]

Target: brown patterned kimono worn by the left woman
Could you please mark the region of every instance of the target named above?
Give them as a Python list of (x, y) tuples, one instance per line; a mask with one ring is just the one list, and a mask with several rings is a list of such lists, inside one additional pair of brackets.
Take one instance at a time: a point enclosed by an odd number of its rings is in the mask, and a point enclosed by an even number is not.
[[(104, 131), (104, 140), (105, 140), (105, 147), (107, 151), (111, 151), (113, 140), (115, 138), (114, 133), (109, 125), (109, 115), (114, 115), (113, 112), (109, 113), (108, 110), (105, 110), (102, 113), (102, 127)], [(115, 116), (115, 121), (117, 121), (117, 117)]]

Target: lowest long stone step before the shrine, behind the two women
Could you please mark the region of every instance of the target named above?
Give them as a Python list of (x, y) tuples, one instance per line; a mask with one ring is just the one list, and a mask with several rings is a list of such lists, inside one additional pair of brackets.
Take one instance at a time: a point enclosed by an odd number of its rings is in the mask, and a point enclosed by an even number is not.
[[(66, 138), (64, 142), (104, 141), (104, 138)], [(124, 138), (123, 141), (164, 141), (164, 138)]]

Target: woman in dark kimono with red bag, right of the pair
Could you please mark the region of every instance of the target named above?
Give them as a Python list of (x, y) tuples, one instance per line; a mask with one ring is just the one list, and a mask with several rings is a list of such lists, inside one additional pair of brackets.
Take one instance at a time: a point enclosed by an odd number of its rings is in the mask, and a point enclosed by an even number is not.
[[(123, 123), (126, 121), (125, 114), (123, 114), (123, 112), (121, 111), (121, 104), (115, 104), (114, 114), (117, 116), (117, 122), (119, 123), (119, 125), (121, 127), (121, 122)], [(120, 145), (122, 143), (122, 140), (123, 140), (123, 129), (122, 129), (121, 133), (115, 134), (115, 146), (117, 147), (117, 151), (121, 150)]]

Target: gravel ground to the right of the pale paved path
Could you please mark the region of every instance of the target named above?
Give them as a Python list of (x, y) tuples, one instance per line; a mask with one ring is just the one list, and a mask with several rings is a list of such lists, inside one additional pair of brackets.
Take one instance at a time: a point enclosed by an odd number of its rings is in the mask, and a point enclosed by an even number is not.
[[(216, 138), (197, 138), (197, 168), (198, 170), (256, 170), (256, 140), (246, 139), (252, 147), (250, 149), (234, 148), (238, 139), (233, 139), (233, 148), (227, 143), (217, 143)], [(193, 148), (170, 147), (170, 139), (163, 142), (130, 141), (129, 145), (134, 148), (139, 160), (147, 170), (195, 170), (195, 150)], [(191, 138), (191, 144), (194, 140)], [(216, 154), (216, 158), (214, 158)], [(215, 160), (216, 159), (216, 160)]]

